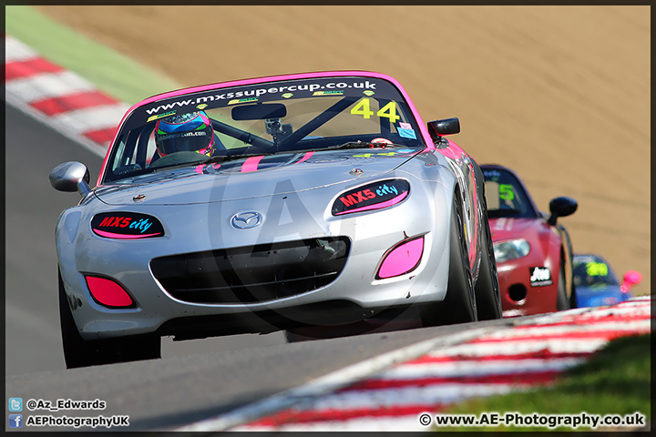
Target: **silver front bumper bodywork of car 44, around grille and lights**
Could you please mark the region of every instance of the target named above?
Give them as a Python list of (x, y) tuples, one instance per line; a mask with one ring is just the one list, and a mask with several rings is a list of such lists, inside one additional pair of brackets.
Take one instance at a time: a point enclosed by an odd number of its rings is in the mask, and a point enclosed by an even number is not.
[[(89, 228), (93, 213), (71, 208), (57, 225), (56, 241), (69, 300), (81, 303), (73, 309), (73, 317), (87, 340), (148, 332), (195, 338), (210, 331), (211, 335), (229, 335), (296, 324), (348, 323), (388, 309), (443, 300), (448, 276), (449, 189), (439, 184), (413, 188), (412, 195), (393, 208), (341, 218), (327, 211), (331, 202), (319, 203), (331, 196), (317, 191), (328, 188), (272, 198), (150, 206), (139, 211), (160, 219), (165, 236), (135, 241), (98, 237)], [(231, 228), (231, 217), (244, 210), (266, 211), (261, 226)], [(313, 216), (309, 211), (324, 212)], [(70, 214), (79, 219), (77, 233), (70, 230), (75, 227), (71, 226), (75, 219), (67, 219)], [(395, 278), (375, 279), (385, 251), (418, 235), (425, 241), (417, 268)], [(291, 296), (223, 303), (183, 300), (167, 291), (152, 270), (152, 260), (161, 257), (308, 239), (346, 239), (348, 259), (327, 285)], [(136, 308), (108, 309), (98, 304), (87, 288), (86, 274), (118, 281), (134, 298)]]

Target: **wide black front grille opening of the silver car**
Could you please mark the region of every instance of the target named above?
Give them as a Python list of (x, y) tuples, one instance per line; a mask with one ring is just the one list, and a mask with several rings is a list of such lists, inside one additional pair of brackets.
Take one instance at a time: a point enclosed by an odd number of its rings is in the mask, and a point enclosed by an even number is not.
[(324, 287), (339, 276), (349, 239), (321, 238), (185, 253), (150, 260), (167, 292), (191, 303), (253, 303)]

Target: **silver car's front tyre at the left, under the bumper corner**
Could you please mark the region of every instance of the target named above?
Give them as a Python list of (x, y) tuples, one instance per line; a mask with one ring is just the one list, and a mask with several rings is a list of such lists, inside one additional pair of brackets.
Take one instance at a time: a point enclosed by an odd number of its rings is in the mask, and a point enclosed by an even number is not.
[(161, 357), (161, 340), (158, 335), (84, 340), (73, 319), (61, 274), (59, 274), (59, 321), (67, 369)]

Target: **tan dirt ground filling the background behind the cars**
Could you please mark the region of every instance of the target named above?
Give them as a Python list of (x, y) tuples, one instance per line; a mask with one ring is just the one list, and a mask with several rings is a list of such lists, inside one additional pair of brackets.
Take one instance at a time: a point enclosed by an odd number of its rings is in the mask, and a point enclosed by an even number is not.
[(37, 6), (185, 86), (295, 72), (395, 76), (425, 121), (514, 168), (575, 252), (651, 293), (650, 6)]

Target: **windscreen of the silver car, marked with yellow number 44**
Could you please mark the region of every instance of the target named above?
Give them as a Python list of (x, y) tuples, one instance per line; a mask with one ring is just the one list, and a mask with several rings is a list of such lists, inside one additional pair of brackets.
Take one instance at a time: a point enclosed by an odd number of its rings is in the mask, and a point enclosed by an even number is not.
[[(209, 119), (210, 135), (198, 114)], [(184, 120), (198, 123), (187, 128)], [(425, 147), (404, 97), (382, 78), (339, 76), (233, 86), (136, 108), (120, 129), (103, 182), (198, 165), (210, 158), (220, 162), (374, 145)]]

